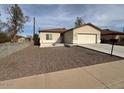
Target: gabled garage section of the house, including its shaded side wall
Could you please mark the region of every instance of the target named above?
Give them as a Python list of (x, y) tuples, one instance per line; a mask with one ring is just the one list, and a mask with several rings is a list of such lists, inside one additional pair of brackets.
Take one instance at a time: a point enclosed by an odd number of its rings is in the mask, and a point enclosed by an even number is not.
[(98, 44), (101, 42), (101, 29), (90, 23), (67, 30), (64, 34), (65, 43)]

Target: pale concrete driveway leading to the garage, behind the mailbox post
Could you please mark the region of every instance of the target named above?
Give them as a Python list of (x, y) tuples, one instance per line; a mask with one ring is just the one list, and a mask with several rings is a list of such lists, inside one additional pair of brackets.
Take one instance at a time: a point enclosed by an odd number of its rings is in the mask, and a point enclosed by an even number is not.
[[(93, 49), (107, 54), (111, 53), (112, 48), (112, 45), (110, 44), (82, 44), (78, 46)], [(124, 57), (124, 46), (115, 45), (113, 49), (113, 55)]]

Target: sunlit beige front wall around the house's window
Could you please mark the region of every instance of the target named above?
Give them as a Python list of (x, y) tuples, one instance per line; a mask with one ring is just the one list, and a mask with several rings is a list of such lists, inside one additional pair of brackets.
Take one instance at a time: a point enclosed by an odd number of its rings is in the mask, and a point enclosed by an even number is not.
[[(52, 40), (46, 40), (46, 34), (52, 34)], [(61, 42), (60, 33), (40, 32), (39, 37), (40, 37), (40, 47), (53, 46), (54, 44)]]

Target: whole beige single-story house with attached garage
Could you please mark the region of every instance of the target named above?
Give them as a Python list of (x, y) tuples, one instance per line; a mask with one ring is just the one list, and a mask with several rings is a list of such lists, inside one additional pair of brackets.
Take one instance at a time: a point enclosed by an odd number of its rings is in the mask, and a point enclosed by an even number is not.
[(71, 29), (55, 28), (39, 31), (40, 47), (54, 46), (57, 43), (99, 44), (102, 29), (87, 23)]

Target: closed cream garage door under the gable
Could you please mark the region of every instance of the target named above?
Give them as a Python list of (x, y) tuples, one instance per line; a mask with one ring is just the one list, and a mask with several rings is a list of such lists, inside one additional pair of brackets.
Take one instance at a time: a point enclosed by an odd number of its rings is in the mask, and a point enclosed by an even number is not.
[(95, 44), (96, 35), (78, 34), (78, 44)]

